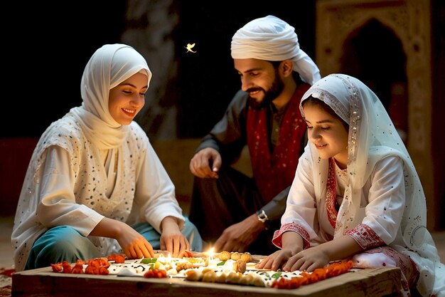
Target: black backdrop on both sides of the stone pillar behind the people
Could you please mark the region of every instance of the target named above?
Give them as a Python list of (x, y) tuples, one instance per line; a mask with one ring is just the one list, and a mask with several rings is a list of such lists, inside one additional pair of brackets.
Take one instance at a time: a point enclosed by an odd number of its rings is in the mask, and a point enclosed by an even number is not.
[[(4, 63), (9, 71), (4, 73), (8, 81), (0, 137), (38, 137), (50, 123), (80, 105), (80, 79), (88, 59), (103, 44), (121, 42), (128, 26), (125, 12), (131, 1), (58, 3), (11, 4), (14, 18), (4, 24)], [(171, 9), (179, 14), (171, 36), (178, 74), (168, 88), (178, 108), (173, 137), (202, 137), (223, 115), (240, 88), (230, 41), (248, 21), (268, 14), (284, 19), (296, 28), (301, 48), (315, 60), (315, 1), (299, 1), (298, 6), (290, 9), (289, 1), (267, 5), (173, 1)], [(192, 42), (198, 53), (186, 54), (184, 46)], [(150, 66), (150, 57), (146, 60)], [(152, 71), (156, 75), (156, 69)]]

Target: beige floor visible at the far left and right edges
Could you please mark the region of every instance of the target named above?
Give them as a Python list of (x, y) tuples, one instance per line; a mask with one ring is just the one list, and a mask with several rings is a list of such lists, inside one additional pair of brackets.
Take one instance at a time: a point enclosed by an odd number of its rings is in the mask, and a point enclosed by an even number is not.
[[(11, 231), (13, 217), (0, 217), (0, 267), (12, 267), (13, 248), (11, 246)], [(442, 263), (445, 261), (445, 231), (432, 233)]]

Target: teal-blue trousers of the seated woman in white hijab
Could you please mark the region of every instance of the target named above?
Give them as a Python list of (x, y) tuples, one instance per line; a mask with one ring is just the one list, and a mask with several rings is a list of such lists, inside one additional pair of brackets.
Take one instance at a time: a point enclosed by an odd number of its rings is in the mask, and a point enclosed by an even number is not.
[[(146, 238), (153, 246), (159, 249), (159, 234), (150, 224), (144, 222), (135, 224), (133, 228)], [(191, 241), (192, 251), (202, 251), (203, 240), (195, 225), (186, 217), (186, 224), (182, 233)], [(97, 248), (85, 236), (80, 235), (71, 226), (55, 226), (45, 231), (33, 244), (26, 262), (25, 270), (48, 267), (50, 264), (68, 261), (74, 263), (77, 259), (88, 260), (101, 256)]]

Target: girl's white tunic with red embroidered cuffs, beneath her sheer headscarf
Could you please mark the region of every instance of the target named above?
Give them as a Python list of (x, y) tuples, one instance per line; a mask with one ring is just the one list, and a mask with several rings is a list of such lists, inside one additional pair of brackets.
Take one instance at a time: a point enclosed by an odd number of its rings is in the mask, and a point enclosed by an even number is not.
[[(299, 224), (309, 234), (308, 244), (316, 246), (333, 239), (337, 211), (333, 204), (328, 203), (326, 196), (315, 197), (312, 162), (307, 158), (308, 153), (299, 160), (299, 169), (289, 192), (282, 224)], [(397, 243), (397, 238), (402, 238), (400, 220), (404, 210), (403, 182), (402, 161), (398, 157), (389, 156), (377, 162), (362, 189), (358, 220), (369, 226), (387, 245)], [(342, 183), (338, 177), (337, 183)], [(354, 238), (357, 240), (358, 236)], [(361, 239), (359, 244), (368, 248), (375, 245), (376, 240)]]

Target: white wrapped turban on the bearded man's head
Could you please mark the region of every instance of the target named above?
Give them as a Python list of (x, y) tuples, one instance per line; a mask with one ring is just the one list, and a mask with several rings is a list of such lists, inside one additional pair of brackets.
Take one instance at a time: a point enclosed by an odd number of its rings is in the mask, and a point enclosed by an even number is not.
[(301, 80), (313, 85), (320, 71), (301, 50), (295, 28), (277, 16), (254, 19), (232, 37), (232, 58), (255, 58), (266, 61), (291, 60)]

